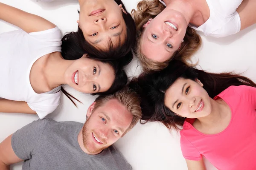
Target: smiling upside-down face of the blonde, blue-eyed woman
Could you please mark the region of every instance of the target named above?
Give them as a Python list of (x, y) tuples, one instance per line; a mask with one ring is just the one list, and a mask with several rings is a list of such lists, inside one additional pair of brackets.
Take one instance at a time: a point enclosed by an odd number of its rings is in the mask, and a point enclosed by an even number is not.
[(142, 53), (155, 62), (165, 62), (179, 49), (187, 26), (183, 14), (165, 8), (144, 25)]

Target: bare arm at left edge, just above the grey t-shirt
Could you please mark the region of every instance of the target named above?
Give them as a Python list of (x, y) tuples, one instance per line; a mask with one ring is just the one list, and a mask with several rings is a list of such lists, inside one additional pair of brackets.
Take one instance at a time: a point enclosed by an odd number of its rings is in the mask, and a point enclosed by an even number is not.
[(35, 111), (29, 108), (27, 102), (7, 99), (0, 99), (0, 112), (36, 114)]

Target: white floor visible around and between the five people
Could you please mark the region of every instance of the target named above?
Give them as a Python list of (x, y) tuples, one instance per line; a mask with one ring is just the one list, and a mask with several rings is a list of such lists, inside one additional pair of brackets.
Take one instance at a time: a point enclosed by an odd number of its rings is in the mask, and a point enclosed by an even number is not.
[[(78, 19), (76, 0), (56, 0), (52, 3), (39, 3), (35, 0), (0, 0), (17, 8), (50, 20), (57, 25), (62, 33), (76, 31)], [(136, 8), (138, 0), (124, 0), (129, 11)], [(254, 15), (254, 14), (252, 14)], [(17, 29), (0, 21), (0, 33)], [(212, 72), (236, 71), (244, 73), (256, 82), (256, 25), (239, 34), (225, 38), (210, 38), (202, 35), (203, 47), (195, 54), (202, 69)], [(1, 47), (0, 47), (1, 48)], [(134, 60), (127, 68), (128, 75), (133, 77), (140, 73), (137, 61)], [(61, 105), (49, 115), (57, 121), (85, 121), (87, 107), (96, 96), (80, 94), (68, 88), (74, 96), (84, 104), (79, 108), (64, 96)], [(36, 115), (0, 113), (0, 142), (20, 127), (38, 119)], [(121, 150), (134, 170), (187, 170), (180, 151), (179, 135), (169, 131), (159, 123), (137, 124), (131, 132), (120, 139), (116, 147)], [(216, 170), (206, 161), (207, 170)], [(21, 170), (21, 163), (13, 166), (13, 170)]]

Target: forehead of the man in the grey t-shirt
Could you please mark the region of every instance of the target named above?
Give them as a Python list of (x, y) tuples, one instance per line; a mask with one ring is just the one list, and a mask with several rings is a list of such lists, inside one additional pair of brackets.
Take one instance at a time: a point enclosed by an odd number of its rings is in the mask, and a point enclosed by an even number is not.
[(111, 124), (124, 127), (125, 129), (131, 124), (132, 114), (118, 100), (111, 99), (105, 102), (101, 107), (96, 109), (98, 114), (108, 116)]

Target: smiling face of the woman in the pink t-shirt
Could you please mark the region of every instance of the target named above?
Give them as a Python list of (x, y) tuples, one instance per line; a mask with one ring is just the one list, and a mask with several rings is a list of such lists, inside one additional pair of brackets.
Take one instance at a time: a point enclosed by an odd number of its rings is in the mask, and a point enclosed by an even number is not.
[(164, 103), (178, 116), (191, 119), (208, 116), (212, 111), (211, 98), (198, 79), (177, 79), (166, 91)]

